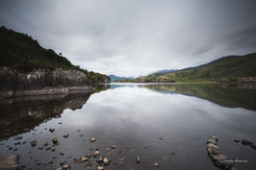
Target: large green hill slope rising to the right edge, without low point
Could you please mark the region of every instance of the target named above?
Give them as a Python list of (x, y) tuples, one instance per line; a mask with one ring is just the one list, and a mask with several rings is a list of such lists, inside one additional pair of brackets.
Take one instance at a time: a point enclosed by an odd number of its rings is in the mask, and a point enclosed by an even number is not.
[(149, 75), (147, 78), (169, 78), (176, 81), (217, 80), (256, 77), (256, 53), (227, 56), (216, 61), (171, 73)]

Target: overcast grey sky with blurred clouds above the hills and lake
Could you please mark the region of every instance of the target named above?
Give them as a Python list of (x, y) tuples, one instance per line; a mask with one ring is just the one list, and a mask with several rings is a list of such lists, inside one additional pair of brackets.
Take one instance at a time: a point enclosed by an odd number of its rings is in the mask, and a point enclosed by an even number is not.
[(0, 24), (118, 76), (256, 52), (255, 0), (0, 0)]

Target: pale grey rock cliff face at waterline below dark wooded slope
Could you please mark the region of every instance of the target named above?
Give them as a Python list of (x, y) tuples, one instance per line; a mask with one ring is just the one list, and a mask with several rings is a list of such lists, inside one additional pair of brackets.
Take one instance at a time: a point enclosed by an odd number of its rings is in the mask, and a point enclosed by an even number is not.
[(34, 69), (23, 73), (0, 67), (0, 97), (90, 92), (86, 74), (79, 70)]

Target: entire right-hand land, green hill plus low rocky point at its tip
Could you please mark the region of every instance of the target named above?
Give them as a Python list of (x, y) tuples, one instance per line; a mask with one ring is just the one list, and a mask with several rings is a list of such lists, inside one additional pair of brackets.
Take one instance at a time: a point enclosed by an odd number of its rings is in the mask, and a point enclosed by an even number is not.
[(256, 53), (222, 57), (196, 67), (164, 70), (135, 80), (117, 82), (256, 82)]

